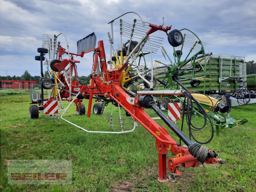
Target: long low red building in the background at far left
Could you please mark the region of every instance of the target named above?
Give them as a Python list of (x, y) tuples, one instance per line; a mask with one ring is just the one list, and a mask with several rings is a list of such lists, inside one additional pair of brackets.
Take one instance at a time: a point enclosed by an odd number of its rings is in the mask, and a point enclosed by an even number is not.
[(0, 81), (0, 88), (32, 89), (35, 84), (37, 84), (37, 81), (2, 80)]

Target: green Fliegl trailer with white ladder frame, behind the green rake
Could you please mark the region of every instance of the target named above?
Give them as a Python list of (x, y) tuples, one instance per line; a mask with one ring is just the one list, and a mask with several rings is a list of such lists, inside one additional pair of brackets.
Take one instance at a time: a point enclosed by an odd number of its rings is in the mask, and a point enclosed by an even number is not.
[[(201, 62), (201, 64), (204, 64), (204, 62)], [(190, 64), (187, 64), (182, 68), (187, 68), (189, 65)], [(203, 65), (203, 69), (197, 70), (194, 76), (198, 80), (203, 80), (204, 77), (206, 77), (205, 89), (204, 80), (196, 87), (191, 86), (190, 82), (193, 77), (192, 72), (180, 76), (179, 79), (182, 84), (192, 91), (205, 92), (205, 94), (208, 95), (234, 93), (239, 87), (246, 86), (246, 67), (244, 58), (235, 57), (229, 54), (206, 56), (206, 67)], [(157, 78), (164, 80), (165, 73), (158, 74)], [(160, 85), (160, 87), (162, 86), (163, 85)]]

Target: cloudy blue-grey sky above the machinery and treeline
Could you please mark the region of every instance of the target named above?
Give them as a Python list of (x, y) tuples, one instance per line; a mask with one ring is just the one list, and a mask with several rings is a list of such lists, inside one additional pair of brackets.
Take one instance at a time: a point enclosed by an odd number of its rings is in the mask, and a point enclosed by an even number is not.
[[(42, 34), (63, 32), (70, 51), (76, 52), (76, 42), (95, 32), (97, 41), (104, 41), (108, 56), (108, 22), (128, 11), (139, 13), (152, 24), (161, 25), (164, 17), (164, 25), (172, 25), (172, 29), (194, 31), (208, 43), (207, 52), (256, 60), (255, 0), (0, 0), (0, 76), (5, 76), (6, 70), (10, 76), (21, 76), (25, 70), (32, 76), (40, 75), (40, 62), (34, 57), (41, 47)], [(164, 38), (168, 52), (170, 45), (166, 44), (166, 35)], [(64, 45), (63, 37), (58, 40)], [(153, 59), (162, 58), (161, 51), (153, 54)], [(81, 60), (78, 75), (89, 75), (92, 52), (76, 59)]]

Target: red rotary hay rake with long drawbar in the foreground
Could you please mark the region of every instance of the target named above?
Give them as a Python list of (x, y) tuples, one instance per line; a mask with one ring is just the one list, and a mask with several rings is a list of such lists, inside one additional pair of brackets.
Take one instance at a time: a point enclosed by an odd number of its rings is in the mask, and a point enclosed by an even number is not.
[[(134, 37), (135, 34), (133, 34), (133, 30), (131, 30), (130, 36), (127, 36), (128, 38), (130, 38), (130, 40), (128, 40), (127, 43), (123, 44), (122, 37), (125, 33), (124, 33), (124, 30), (121, 28), (120, 30), (121, 50), (114, 52), (114, 56), (112, 57), (112, 50), (114, 50), (113, 49), (113, 43), (114, 43), (113, 22), (116, 19), (119, 19), (120, 17), (128, 13), (134, 13), (136, 14), (137, 17), (139, 17), (140, 19), (139, 21), (141, 22), (141, 24), (138, 24), (138, 26), (143, 28), (144, 31), (142, 31), (143, 33), (141, 34), (140, 38), (138, 37), (139, 41), (133, 41), (132, 39), (135, 38)], [(142, 125), (156, 138), (155, 146), (159, 154), (158, 155), (159, 156), (158, 180), (162, 182), (168, 181), (167, 165), (168, 165), (169, 171), (171, 172), (168, 174), (169, 179), (174, 182), (176, 180), (176, 177), (181, 175), (179, 171), (180, 166), (182, 168), (187, 168), (187, 167), (197, 167), (203, 163), (223, 164), (224, 160), (220, 158), (219, 159), (216, 158), (218, 156), (217, 152), (207, 148), (206, 146), (202, 146), (196, 142), (191, 141), (182, 131), (180, 131), (180, 129), (175, 124), (173, 124), (172, 121), (167, 116), (165, 116), (161, 110), (159, 110), (156, 107), (155, 105), (156, 103), (153, 100), (153, 97), (151, 96), (151, 94), (149, 94), (147, 91), (140, 91), (140, 93), (136, 94), (123, 87), (126, 82), (130, 81), (130, 79), (126, 79), (126, 75), (132, 69), (132, 65), (134, 65), (134, 69), (138, 72), (137, 76), (143, 79), (148, 85), (150, 85), (150, 87), (152, 87), (153, 85), (152, 52), (154, 52), (153, 51), (154, 48), (152, 47), (153, 43), (151, 44), (150, 41), (151, 41), (151, 37), (152, 39), (156, 37), (150, 36), (150, 35), (158, 30), (164, 31), (166, 34), (168, 34), (167, 31), (171, 29), (171, 26), (163, 27), (161, 25), (157, 26), (157, 25), (149, 24), (149, 28), (147, 28), (145, 25), (145, 22), (142, 20), (140, 15), (138, 15), (135, 12), (127, 12), (117, 17), (116, 19), (109, 22), (111, 24), (111, 29), (112, 29), (111, 34), (108, 33), (109, 41), (110, 41), (109, 61), (107, 62), (105, 57), (105, 49), (104, 49), (103, 41), (98, 41), (98, 47), (92, 49), (94, 61), (92, 66), (90, 85), (87, 85), (87, 84), (76, 85), (76, 83), (73, 83), (74, 81), (72, 82), (71, 78), (70, 79), (67, 78), (67, 76), (71, 76), (71, 73), (70, 72), (68, 73), (68, 71), (71, 71), (71, 66), (72, 66), (71, 60), (65, 60), (65, 59), (60, 60), (60, 54), (59, 54), (59, 60), (54, 59), (51, 61), (50, 67), (53, 71), (57, 73), (56, 74), (57, 78), (60, 78), (60, 81), (65, 85), (66, 91), (64, 90), (65, 92), (64, 94), (68, 93), (69, 96), (67, 95), (66, 99), (70, 101), (68, 107), (64, 110), (60, 118), (88, 133), (123, 134), (123, 133), (133, 132), (137, 126)], [(137, 20), (134, 20), (132, 29), (134, 29), (137, 26), (136, 22)], [(83, 56), (85, 52), (89, 52), (88, 51), (89, 49), (86, 46), (86, 43), (88, 43), (87, 40), (88, 39), (86, 38), (80, 40), (82, 43), (78, 44), (79, 53), (73, 54), (73, 55)], [(95, 42), (96, 42), (96, 38), (95, 38)], [(148, 47), (146, 47), (145, 45), (148, 45)], [(149, 49), (149, 52), (151, 52), (150, 54), (151, 69), (152, 69), (151, 79), (147, 79), (145, 78), (145, 76), (143, 76), (143, 74), (141, 75), (139, 73), (140, 67), (136, 62), (137, 57), (139, 57), (140, 52), (143, 52), (143, 49), (145, 47)], [(69, 54), (70, 53), (68, 51), (68, 55)], [(117, 61), (118, 56), (120, 57), (119, 63)], [(108, 65), (110, 69), (108, 69)], [(63, 73), (63, 70), (64, 70), (64, 73)], [(74, 70), (76, 70), (76, 68), (74, 68)], [(62, 77), (62, 74), (63, 74), (63, 77)], [(55, 84), (56, 84), (56, 81), (55, 81)], [(79, 83), (79, 80), (75, 82)], [(77, 91), (76, 93), (74, 93), (75, 87), (79, 87), (79, 91)], [(60, 88), (60, 90), (63, 90), (63, 88), (62, 89)], [(72, 94), (75, 95), (73, 99), (71, 99)], [(184, 94), (184, 92), (181, 90), (175, 90), (175, 91), (169, 90), (164, 94), (176, 95), (180, 97), (182, 96), (182, 94)], [(82, 102), (81, 97), (83, 97), (83, 99), (89, 100), (87, 117), (91, 116), (92, 100), (96, 99), (101, 101), (102, 103), (96, 103), (93, 106), (93, 112), (95, 114), (103, 113), (103, 116), (105, 116), (110, 120), (110, 127), (112, 129), (115, 129), (115, 131), (114, 132), (113, 131), (89, 131), (65, 119), (63, 117), (64, 114), (66, 113), (68, 108), (71, 106), (71, 104), (73, 102), (76, 102), (76, 99), (78, 97), (79, 97), (79, 101), (78, 101), (79, 104)], [(158, 125), (156, 121), (154, 121), (146, 113), (145, 109), (147, 108), (152, 109), (164, 121), (164, 123), (180, 138), (180, 140), (182, 140), (185, 143), (185, 145), (181, 146), (180, 143), (176, 142), (169, 135), (169, 132), (164, 127), (161, 127), (160, 125)], [(125, 122), (126, 120), (123, 118), (124, 112), (125, 112), (125, 116), (128, 119), (130, 119), (130, 121), (133, 123), (133, 128), (124, 126), (126, 125), (126, 122)], [(113, 116), (116, 116), (117, 118), (114, 119)], [(111, 121), (112, 123), (115, 122), (115, 126), (111, 124)], [(119, 124), (121, 129), (119, 128), (118, 130), (116, 129), (116, 125), (119, 125)], [(169, 158), (167, 161), (166, 154), (168, 153), (169, 150), (176, 155), (176, 158)]]

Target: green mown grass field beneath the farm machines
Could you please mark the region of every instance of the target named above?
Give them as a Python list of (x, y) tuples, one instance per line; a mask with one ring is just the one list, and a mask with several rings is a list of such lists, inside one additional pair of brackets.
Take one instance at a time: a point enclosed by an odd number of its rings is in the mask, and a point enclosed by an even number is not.
[[(63, 120), (29, 119), (29, 103), (29, 93), (0, 92), (0, 191), (256, 191), (255, 104), (233, 108), (233, 118), (248, 118), (249, 122), (222, 129), (220, 136), (215, 134), (206, 144), (226, 161), (224, 165), (181, 168), (175, 183), (160, 183), (155, 139), (142, 126), (127, 134), (86, 133)], [(88, 101), (84, 103), (87, 107)], [(88, 130), (108, 129), (109, 122), (102, 116), (77, 116), (74, 105), (65, 117)], [(162, 120), (157, 122), (164, 126)], [(210, 133), (205, 129), (195, 135), (206, 140)], [(8, 185), (8, 159), (72, 160), (72, 185)]]

